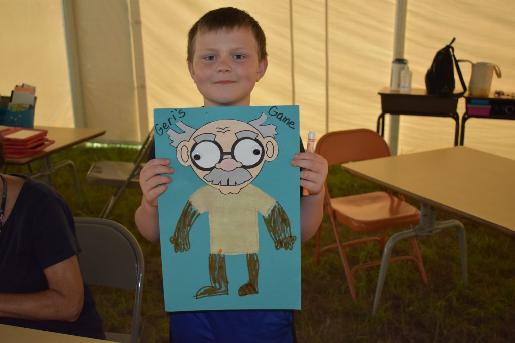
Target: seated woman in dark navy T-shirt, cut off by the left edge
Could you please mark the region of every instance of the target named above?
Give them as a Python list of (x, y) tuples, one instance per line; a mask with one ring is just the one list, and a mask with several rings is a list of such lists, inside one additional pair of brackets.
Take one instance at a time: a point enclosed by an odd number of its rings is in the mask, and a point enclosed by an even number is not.
[(0, 194), (0, 324), (105, 339), (63, 198), (16, 174), (0, 174)]

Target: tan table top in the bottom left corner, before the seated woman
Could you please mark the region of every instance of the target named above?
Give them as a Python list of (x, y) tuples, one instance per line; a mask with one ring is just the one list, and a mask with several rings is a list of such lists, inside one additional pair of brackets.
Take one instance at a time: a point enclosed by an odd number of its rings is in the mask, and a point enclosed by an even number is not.
[(0, 341), (2, 343), (99, 343), (105, 340), (63, 335), (60, 333), (12, 327), (0, 324)]

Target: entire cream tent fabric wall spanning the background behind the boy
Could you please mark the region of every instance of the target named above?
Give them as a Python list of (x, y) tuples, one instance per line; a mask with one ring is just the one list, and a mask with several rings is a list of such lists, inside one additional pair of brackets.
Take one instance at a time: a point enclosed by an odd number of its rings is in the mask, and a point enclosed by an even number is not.
[[(138, 126), (146, 118), (138, 118), (129, 13), (130, 3), (138, 0), (73, 2), (78, 9), (78, 40), (84, 42), (80, 56), (81, 73), (88, 80), (84, 82), (84, 94), (90, 101), (87, 124), (107, 129), (106, 139), (138, 140)], [(2, 42), (13, 46), (26, 40), (26, 46), (43, 51), (30, 60), (23, 51), (5, 51), (0, 57), (3, 69), (12, 61), (16, 64), (4, 71), (0, 93), (9, 92), (16, 82), (35, 83), (39, 95), (36, 123), (70, 125), (70, 90), (62, 85), (67, 78), (62, 19), (55, 15), (60, 1), (0, 0), (0, 5)], [(254, 89), (252, 105), (299, 104), (303, 136), (308, 130), (320, 136), (326, 127), (331, 131), (375, 129), (381, 111), (377, 91), (388, 86), (390, 79), (394, 0), (139, 0), (146, 78), (142, 86), (147, 95), (149, 129), (154, 108), (202, 104), (186, 69), (186, 33), (200, 15), (220, 6), (247, 10), (267, 34), (269, 68)], [(23, 13), (29, 19), (8, 15), (6, 8), (8, 13)], [(404, 56), (413, 71), (413, 87), (425, 87), (424, 76), (436, 51), (456, 37), (459, 59), (498, 64), (503, 78), (494, 79), (492, 89), (514, 92), (513, 13), (515, 3), (501, 0), (409, 1)], [(30, 27), (30, 32), (15, 29), (23, 26)], [(41, 41), (51, 44), (38, 43)], [(462, 71), (468, 80), (470, 66), (462, 65)], [(61, 84), (54, 86), (58, 80)], [(49, 88), (59, 91), (50, 95), (46, 93)], [(459, 104), (458, 113), (462, 114), (464, 100)], [(450, 118), (401, 116), (400, 120), (399, 153), (452, 145), (454, 126)], [(514, 129), (515, 121), (511, 120), (470, 119), (465, 143), (515, 158)]]

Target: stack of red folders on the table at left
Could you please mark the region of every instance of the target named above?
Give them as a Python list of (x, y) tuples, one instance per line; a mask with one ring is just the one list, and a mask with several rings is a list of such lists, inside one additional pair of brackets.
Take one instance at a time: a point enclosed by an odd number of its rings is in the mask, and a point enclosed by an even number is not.
[(0, 131), (6, 157), (22, 158), (45, 149), (55, 141), (46, 138), (47, 130), (8, 127)]

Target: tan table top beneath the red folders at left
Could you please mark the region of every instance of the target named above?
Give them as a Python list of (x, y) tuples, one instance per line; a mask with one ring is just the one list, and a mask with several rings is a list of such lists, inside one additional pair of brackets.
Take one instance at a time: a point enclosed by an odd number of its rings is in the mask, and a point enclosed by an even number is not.
[(55, 140), (55, 143), (30, 156), (22, 158), (6, 158), (6, 164), (24, 165), (37, 159), (47, 157), (53, 153), (76, 146), (82, 142), (101, 136), (106, 130), (91, 128), (58, 128), (37, 126), (35, 129), (48, 130), (46, 137)]

